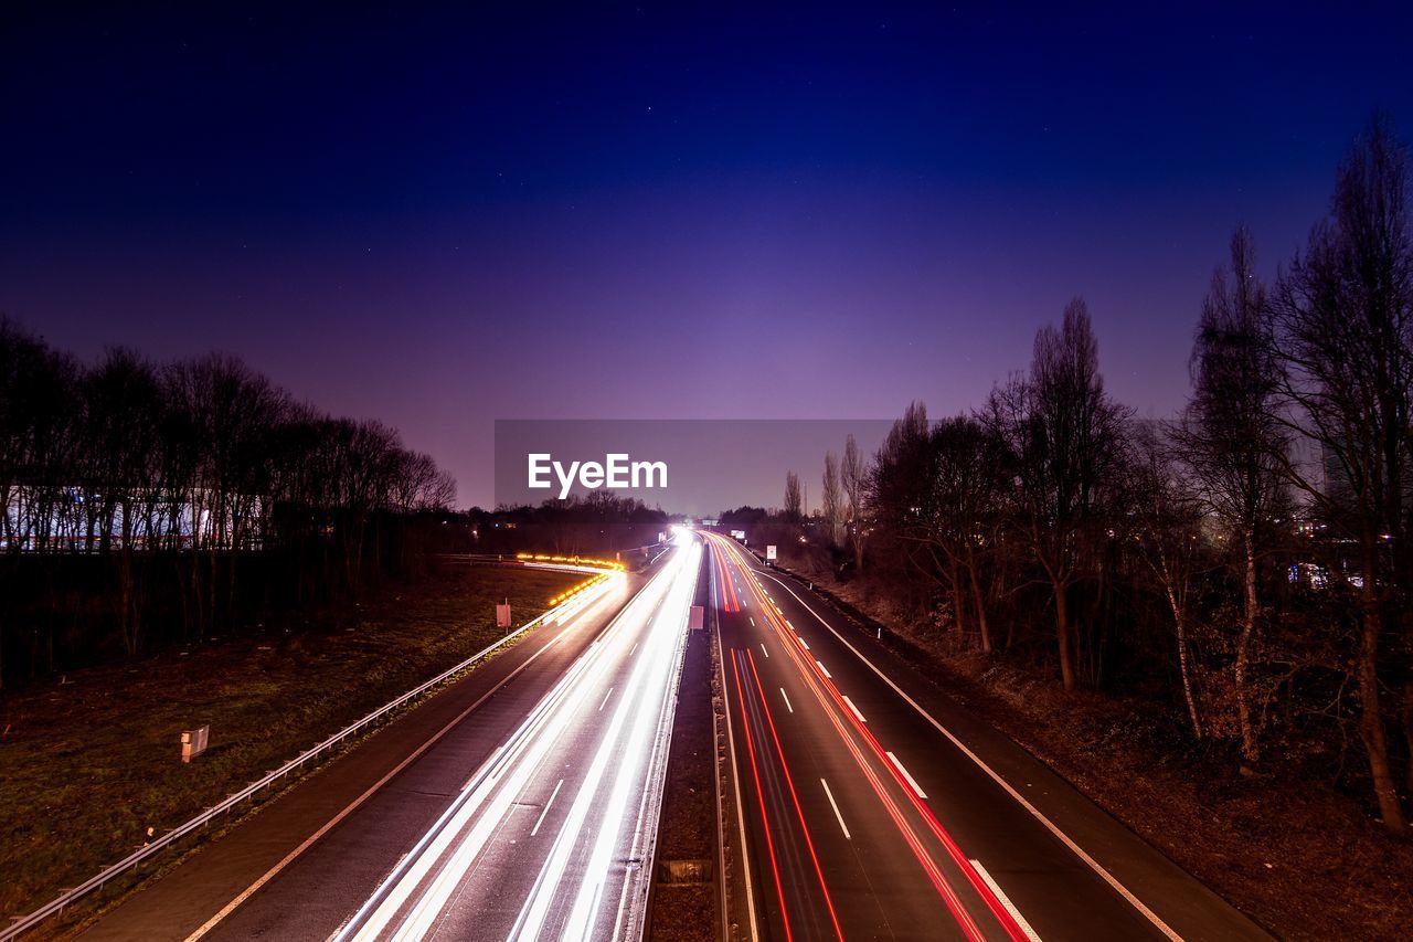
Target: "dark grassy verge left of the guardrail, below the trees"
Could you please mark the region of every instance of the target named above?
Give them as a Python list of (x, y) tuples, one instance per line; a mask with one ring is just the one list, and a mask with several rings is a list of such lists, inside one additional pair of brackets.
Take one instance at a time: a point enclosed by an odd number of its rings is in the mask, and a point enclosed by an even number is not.
[[(259, 635), (0, 694), (0, 917), (32, 911), (263, 772), (475, 653), (578, 574), (455, 567)], [(179, 761), (179, 733), (211, 748)]]

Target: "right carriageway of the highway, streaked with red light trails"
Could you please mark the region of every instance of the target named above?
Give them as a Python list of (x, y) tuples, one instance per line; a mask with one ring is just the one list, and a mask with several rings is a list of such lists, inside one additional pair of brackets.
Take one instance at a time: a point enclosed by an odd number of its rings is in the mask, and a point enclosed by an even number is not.
[(708, 542), (738, 938), (1267, 938), (803, 586)]

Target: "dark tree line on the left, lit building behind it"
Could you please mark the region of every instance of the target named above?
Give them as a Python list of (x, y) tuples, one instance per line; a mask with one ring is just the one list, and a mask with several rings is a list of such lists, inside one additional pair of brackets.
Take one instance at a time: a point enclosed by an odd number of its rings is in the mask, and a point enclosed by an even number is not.
[(243, 601), (355, 594), (454, 498), (396, 430), (233, 356), (89, 365), (0, 318), (0, 682), (21, 673), (4, 658), (34, 676), (114, 639), (205, 638)]

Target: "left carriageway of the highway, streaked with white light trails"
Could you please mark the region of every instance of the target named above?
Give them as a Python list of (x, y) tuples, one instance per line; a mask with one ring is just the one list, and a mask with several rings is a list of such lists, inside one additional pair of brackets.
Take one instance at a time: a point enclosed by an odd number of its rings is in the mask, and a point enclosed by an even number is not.
[[(369, 747), (277, 801), (283, 827), (256, 815), (86, 936), (636, 939), (702, 556), (684, 535), (626, 604), (623, 577), (606, 581), (493, 659), (431, 738), (374, 737), (384, 764), (403, 758), (345, 789), (355, 803), (331, 815), (342, 798), (319, 795)], [(242, 856), (257, 866), (223, 877)]]

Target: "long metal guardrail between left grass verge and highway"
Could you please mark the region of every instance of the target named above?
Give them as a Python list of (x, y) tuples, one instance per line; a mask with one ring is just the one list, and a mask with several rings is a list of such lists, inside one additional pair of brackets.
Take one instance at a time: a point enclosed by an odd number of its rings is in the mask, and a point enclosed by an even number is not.
[[(582, 571), (582, 570), (588, 569), (584, 564), (558, 566), (558, 564), (552, 564), (552, 563), (528, 563), (528, 566), (531, 566), (534, 569), (552, 569), (552, 570), (569, 570), (569, 571)], [(598, 570), (595, 570), (595, 571), (598, 571)], [(610, 570), (602, 570), (602, 571), (610, 571)], [(37, 928), (41, 922), (44, 922), (49, 917), (59, 915), (61, 912), (64, 912), (65, 907), (71, 907), (75, 902), (78, 902), (79, 900), (82, 900), (83, 897), (86, 897), (88, 894), (96, 892), (96, 891), (102, 890), (106, 884), (112, 883), (117, 877), (122, 877), (124, 873), (127, 873), (129, 870), (133, 870), (134, 867), (137, 867), (141, 863), (150, 860), (151, 857), (155, 857), (158, 853), (161, 853), (162, 850), (165, 850), (171, 844), (177, 843), (182, 837), (187, 837), (188, 835), (192, 835), (192, 833), (201, 830), (202, 827), (205, 827), (211, 822), (216, 820), (222, 815), (229, 813), (233, 808), (236, 808), (242, 802), (249, 801), (250, 798), (254, 798), (257, 793), (260, 793), (263, 789), (268, 788), (270, 785), (274, 785), (280, 779), (288, 778), (295, 771), (300, 771), (300, 769), (305, 768), (312, 760), (324, 755), (325, 752), (328, 752), (329, 750), (335, 748), (341, 743), (345, 743), (349, 738), (357, 735), (363, 730), (369, 728), (370, 726), (373, 726), (374, 723), (377, 723), (383, 717), (386, 717), (389, 713), (391, 713), (397, 707), (406, 704), (410, 700), (417, 699), (418, 696), (421, 696), (422, 693), (427, 693), (428, 690), (431, 690), (437, 685), (444, 683), (449, 678), (461, 673), (466, 668), (472, 666), (473, 663), (476, 663), (478, 661), (480, 661), (482, 658), (485, 658), (486, 655), (489, 655), (490, 652), (493, 652), (496, 648), (500, 648), (502, 645), (507, 644), (512, 638), (517, 638), (521, 634), (524, 634), (524, 632), (530, 631), (531, 628), (534, 628), (536, 625), (538, 625), (540, 622), (545, 621), (547, 618), (554, 617), (555, 612), (558, 612), (561, 608), (564, 608), (565, 605), (568, 605), (568, 604), (571, 604), (574, 601), (575, 601), (574, 598), (565, 600), (560, 605), (555, 605), (554, 608), (543, 612), (537, 618), (533, 618), (531, 621), (527, 621), (526, 624), (520, 625), (514, 631), (506, 634), (503, 638), (499, 638), (493, 644), (486, 645), (485, 648), (482, 648), (476, 653), (471, 655), (469, 658), (466, 658), (461, 663), (458, 663), (458, 665), (455, 665), (452, 668), (448, 668), (447, 670), (441, 672), (439, 675), (437, 675), (431, 680), (428, 680), (428, 682), (425, 682), (425, 683), (422, 683), (422, 685), (420, 685), (420, 686), (408, 690), (407, 693), (404, 693), (403, 696), (397, 697), (396, 700), (384, 703), (379, 709), (376, 709), (372, 713), (369, 713), (367, 716), (365, 716), (362, 720), (357, 720), (352, 726), (348, 726), (348, 727), (339, 730), (338, 733), (335, 733), (329, 738), (324, 740), (322, 743), (309, 747), (308, 750), (305, 750), (300, 755), (294, 757), (292, 760), (290, 760), (288, 762), (285, 762), (280, 768), (277, 768), (277, 769), (274, 769), (271, 772), (267, 772), (264, 778), (260, 778), (260, 779), (257, 779), (254, 782), (250, 782), (243, 789), (240, 789), (239, 792), (230, 795), (229, 798), (226, 798), (219, 805), (213, 805), (212, 808), (208, 808), (206, 810), (203, 810), (202, 813), (196, 815), (195, 818), (192, 818), (187, 823), (178, 825), (177, 827), (174, 827), (172, 830), (167, 832), (161, 837), (154, 839), (151, 843), (147, 843), (143, 847), (140, 847), (138, 850), (134, 850), (133, 853), (130, 853), (127, 857), (123, 857), (116, 864), (112, 864), (112, 866), (103, 868), (102, 871), (99, 871), (96, 876), (89, 877), (88, 880), (85, 880), (79, 885), (76, 885), (76, 887), (73, 887), (71, 890), (65, 890), (58, 897), (55, 897), (54, 900), (51, 900), (45, 905), (40, 907), (34, 912), (31, 912), (28, 915), (23, 915), (23, 917), (11, 917), (14, 919), (14, 922), (10, 926), (7, 926), (7, 928), (0, 929), (0, 942), (8, 942), (10, 939), (17, 939), (21, 934), (28, 932), (30, 929)]]

